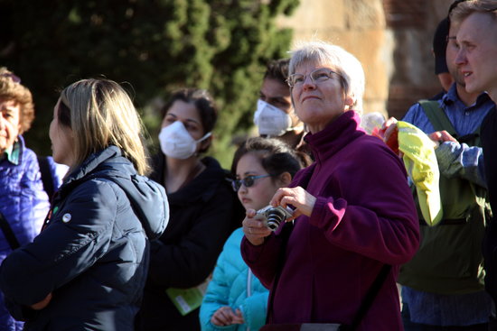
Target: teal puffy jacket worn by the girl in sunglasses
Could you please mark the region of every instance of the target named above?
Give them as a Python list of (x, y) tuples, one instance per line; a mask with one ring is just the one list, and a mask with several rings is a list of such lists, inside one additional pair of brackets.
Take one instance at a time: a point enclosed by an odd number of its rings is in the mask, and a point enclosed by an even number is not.
[[(200, 312), (202, 330), (257, 331), (266, 323), (268, 290), (243, 261), (239, 246), (243, 238), (241, 227), (224, 244), (214, 269), (212, 280), (202, 301)], [(215, 326), (211, 317), (221, 307), (239, 308), (245, 324)]]

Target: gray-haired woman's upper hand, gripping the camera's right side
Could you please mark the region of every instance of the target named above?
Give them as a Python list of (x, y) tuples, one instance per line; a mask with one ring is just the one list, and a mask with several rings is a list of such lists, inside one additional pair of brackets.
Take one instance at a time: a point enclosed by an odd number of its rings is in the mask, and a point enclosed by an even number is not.
[(294, 220), (296, 217), (305, 215), (311, 216), (316, 198), (304, 188), (278, 188), (277, 193), (271, 199), (272, 206), (295, 207), (294, 214), (286, 218), (286, 222)]

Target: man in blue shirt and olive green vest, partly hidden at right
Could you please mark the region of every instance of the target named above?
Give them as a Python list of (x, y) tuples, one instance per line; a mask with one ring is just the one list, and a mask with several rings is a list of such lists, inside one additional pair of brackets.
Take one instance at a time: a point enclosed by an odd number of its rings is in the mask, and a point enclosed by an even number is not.
[[(460, 1), (455, 5), (458, 3)], [(467, 92), (465, 89), (464, 72), (460, 64), (455, 63), (457, 30), (455, 24), (450, 24), (445, 55), (455, 83), (437, 100), (439, 109), (436, 109), (444, 112), (452, 125), (441, 129), (435, 127), (420, 104), (411, 106), (403, 121), (416, 125), (440, 143), (436, 148), (436, 159), (441, 179), (458, 181), (466, 191), (469, 188), (484, 195), (485, 183), (481, 176), (483, 152), (482, 148), (471, 143), (474, 143), (483, 118), (493, 103), (486, 93), (482, 93), (483, 90)], [(455, 136), (448, 133), (451, 130), (455, 131)], [(467, 137), (471, 139), (465, 140)], [(442, 188), (441, 185), (444, 220), (434, 227), (421, 221), (423, 239), (420, 249), (399, 274), (399, 283), (403, 285), (404, 326), (406, 331), (452, 330), (453, 327), (457, 330), (487, 330), (492, 300), (483, 289), (481, 244), (488, 216), (484, 213), (484, 206), (479, 210), (482, 213), (478, 214), (473, 205), (468, 205), (467, 216), (451, 217), (455, 215), (452, 213), (455, 208), (450, 203), (464, 204), (466, 201), (457, 201), (457, 195), (462, 192)], [(448, 198), (451, 196), (452, 201)], [(474, 200), (483, 201), (484, 198), (474, 194)]]

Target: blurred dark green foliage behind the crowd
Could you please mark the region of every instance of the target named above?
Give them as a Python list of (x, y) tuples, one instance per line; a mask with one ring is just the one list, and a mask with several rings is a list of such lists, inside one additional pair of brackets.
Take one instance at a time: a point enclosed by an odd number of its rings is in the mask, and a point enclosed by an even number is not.
[(211, 91), (220, 107), (211, 153), (230, 166), (231, 138), (246, 134), (267, 60), (286, 56), (291, 32), (275, 18), (298, 0), (2, 0), (0, 64), (30, 87), (37, 119), (26, 133), (49, 152), (58, 90), (80, 78), (127, 83), (153, 141), (155, 97), (178, 87)]

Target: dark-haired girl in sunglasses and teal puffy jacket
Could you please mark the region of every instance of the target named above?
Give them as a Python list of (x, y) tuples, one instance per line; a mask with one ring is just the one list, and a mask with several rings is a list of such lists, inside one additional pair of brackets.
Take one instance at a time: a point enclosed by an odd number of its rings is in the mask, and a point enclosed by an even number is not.
[[(286, 187), (300, 168), (302, 161), (286, 143), (250, 138), (235, 152), (233, 188), (246, 210), (258, 210), (266, 207), (277, 188)], [(242, 237), (240, 227), (220, 253), (202, 301), (202, 330), (258, 330), (266, 322), (268, 291), (241, 257)]]

